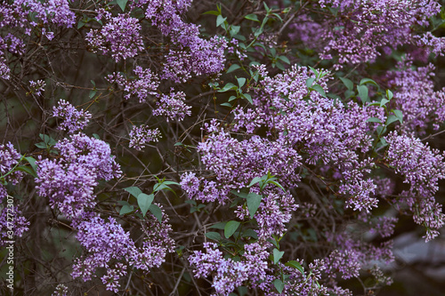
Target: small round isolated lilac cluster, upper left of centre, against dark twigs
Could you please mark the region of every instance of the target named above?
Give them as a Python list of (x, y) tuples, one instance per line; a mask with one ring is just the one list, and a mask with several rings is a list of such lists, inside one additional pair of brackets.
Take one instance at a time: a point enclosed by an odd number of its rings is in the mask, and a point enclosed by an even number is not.
[(154, 116), (166, 116), (167, 122), (169, 120), (184, 120), (185, 116), (190, 116), (190, 106), (185, 104), (185, 92), (173, 92), (169, 94), (161, 94), (159, 100), (156, 102), (157, 108), (153, 110)]

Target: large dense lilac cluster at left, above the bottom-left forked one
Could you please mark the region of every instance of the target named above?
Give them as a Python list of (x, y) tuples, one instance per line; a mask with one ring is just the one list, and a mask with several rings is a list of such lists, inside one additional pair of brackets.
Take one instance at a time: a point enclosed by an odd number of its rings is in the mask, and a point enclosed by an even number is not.
[(109, 145), (102, 140), (79, 133), (59, 141), (57, 159), (36, 162), (36, 188), (39, 196), (49, 197), (51, 206), (68, 217), (77, 217), (85, 207), (93, 207), (93, 189), (98, 180), (121, 175), (120, 167), (110, 156)]

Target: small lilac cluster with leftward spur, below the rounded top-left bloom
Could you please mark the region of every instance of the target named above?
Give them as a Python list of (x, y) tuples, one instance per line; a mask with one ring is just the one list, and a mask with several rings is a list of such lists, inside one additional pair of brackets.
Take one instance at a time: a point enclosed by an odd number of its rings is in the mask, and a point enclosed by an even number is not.
[(133, 70), (135, 77), (133, 78), (125, 78), (120, 73), (113, 73), (112, 75), (107, 76), (105, 79), (110, 84), (116, 83), (120, 87), (124, 87), (126, 100), (130, 99), (132, 95), (136, 96), (139, 99), (139, 102), (144, 102), (147, 100), (147, 97), (150, 95), (158, 96), (159, 87), (159, 78), (151, 72), (150, 68), (142, 68), (140, 66), (136, 66)]

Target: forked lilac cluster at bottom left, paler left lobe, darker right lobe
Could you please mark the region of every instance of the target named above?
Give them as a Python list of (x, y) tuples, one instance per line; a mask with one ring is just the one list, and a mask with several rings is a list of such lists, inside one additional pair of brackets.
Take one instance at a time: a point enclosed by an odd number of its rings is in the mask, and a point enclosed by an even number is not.
[(107, 290), (118, 292), (119, 279), (126, 275), (128, 266), (149, 271), (166, 260), (167, 252), (174, 252), (174, 241), (169, 237), (172, 228), (167, 222), (164, 212), (161, 223), (151, 214), (142, 220), (144, 236), (138, 246), (114, 218), (106, 221), (93, 212), (84, 212), (73, 220), (73, 227), (78, 230), (76, 237), (85, 255), (75, 260), (71, 276), (86, 282), (95, 276), (97, 268), (106, 268), (101, 281)]

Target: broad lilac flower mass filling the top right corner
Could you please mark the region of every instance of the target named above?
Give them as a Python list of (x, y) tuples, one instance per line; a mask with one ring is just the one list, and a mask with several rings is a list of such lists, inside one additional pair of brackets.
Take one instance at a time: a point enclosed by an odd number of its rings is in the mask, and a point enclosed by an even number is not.
[(338, 9), (338, 16), (332, 27), (325, 28), (322, 39), (328, 44), (320, 56), (327, 60), (336, 56), (336, 68), (375, 60), (380, 55), (378, 49), (384, 46), (394, 49), (403, 44), (433, 46), (433, 52), (441, 52), (443, 47), (445, 39), (436, 40), (438, 38), (432, 38), (431, 34), (417, 37), (412, 29), (427, 26), (428, 19), (441, 11), (441, 5), (436, 1), (320, 2), (321, 7), (327, 4)]

